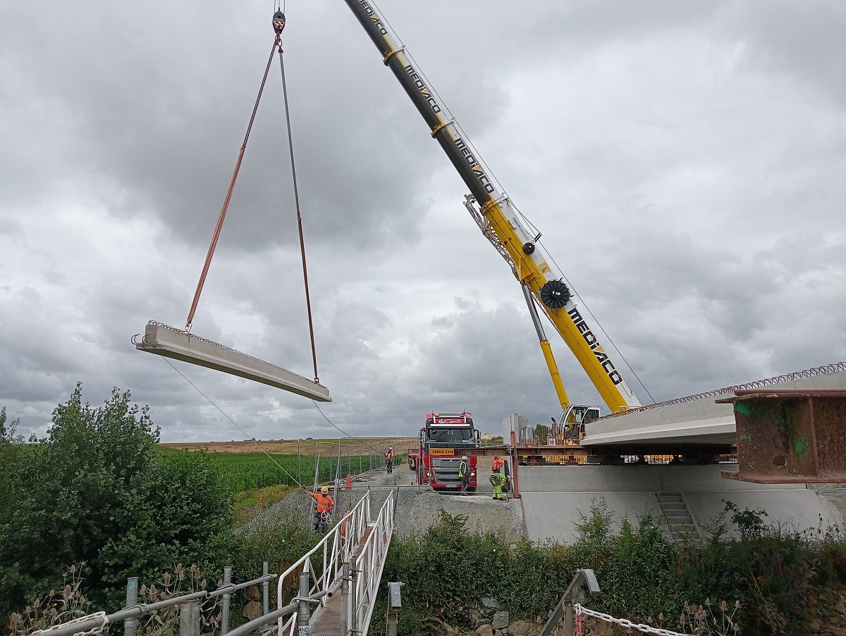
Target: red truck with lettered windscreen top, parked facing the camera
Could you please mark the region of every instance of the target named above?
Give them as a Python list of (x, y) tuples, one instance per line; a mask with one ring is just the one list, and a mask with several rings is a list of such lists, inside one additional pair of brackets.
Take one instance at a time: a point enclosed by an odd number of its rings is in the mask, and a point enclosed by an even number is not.
[(476, 457), (467, 450), (481, 446), (479, 431), (469, 413), (429, 413), (420, 429), (420, 447), (409, 452), (409, 469), (417, 471), (417, 484), (429, 485), (437, 492), (460, 492), (459, 463), (467, 455), (470, 483), (476, 490)]

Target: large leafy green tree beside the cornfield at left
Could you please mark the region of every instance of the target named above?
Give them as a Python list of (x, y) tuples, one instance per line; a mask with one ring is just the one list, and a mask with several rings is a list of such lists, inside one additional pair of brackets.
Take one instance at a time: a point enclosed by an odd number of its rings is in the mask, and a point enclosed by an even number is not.
[(114, 388), (92, 408), (77, 384), (53, 411), (47, 438), (4, 442), (25, 452), (7, 489), (14, 511), (0, 517), (0, 616), (80, 562), (91, 572), (88, 595), (107, 609), (120, 605), (127, 576), (221, 564), (232, 513), (217, 475), (204, 455), (160, 461), (158, 427), (129, 400)]

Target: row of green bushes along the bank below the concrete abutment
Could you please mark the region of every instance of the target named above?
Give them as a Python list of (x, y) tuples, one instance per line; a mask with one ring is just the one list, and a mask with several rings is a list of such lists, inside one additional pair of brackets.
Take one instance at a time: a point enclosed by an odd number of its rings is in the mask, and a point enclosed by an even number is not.
[[(649, 514), (623, 519), (614, 531), (604, 500), (581, 518), (569, 546), (508, 543), (468, 532), (463, 516), (441, 515), (388, 551), (382, 580), (406, 585), (400, 620), (407, 633), (437, 631), (433, 616), (472, 629), (483, 596), (497, 599), (511, 620), (545, 620), (579, 567), (593, 569), (602, 587), (592, 609), (696, 634), (803, 633), (805, 600), (846, 584), (846, 541), (838, 533), (788, 532), (766, 524), (762, 511), (730, 503), (700, 546), (676, 546)], [(384, 609), (382, 599), (376, 631)]]

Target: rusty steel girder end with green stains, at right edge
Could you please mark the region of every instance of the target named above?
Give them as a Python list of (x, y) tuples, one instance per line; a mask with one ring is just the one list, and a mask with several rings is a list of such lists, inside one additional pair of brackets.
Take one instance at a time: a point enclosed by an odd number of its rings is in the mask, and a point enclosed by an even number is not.
[(759, 484), (846, 483), (846, 391), (749, 390), (733, 403), (738, 472)]

